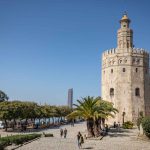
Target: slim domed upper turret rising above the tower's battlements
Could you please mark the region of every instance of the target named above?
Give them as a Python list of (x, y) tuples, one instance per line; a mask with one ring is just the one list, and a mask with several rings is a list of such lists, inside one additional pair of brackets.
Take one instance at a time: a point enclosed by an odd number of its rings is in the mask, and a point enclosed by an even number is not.
[(126, 52), (133, 48), (133, 31), (129, 28), (130, 19), (124, 14), (120, 20), (121, 28), (118, 30), (117, 48), (118, 52)]

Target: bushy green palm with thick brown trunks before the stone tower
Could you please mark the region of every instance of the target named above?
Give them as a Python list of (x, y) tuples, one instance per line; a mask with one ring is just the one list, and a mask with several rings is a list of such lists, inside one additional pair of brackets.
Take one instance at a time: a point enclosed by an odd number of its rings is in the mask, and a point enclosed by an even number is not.
[(112, 113), (117, 112), (112, 103), (103, 101), (100, 97), (88, 96), (77, 102), (79, 104), (74, 104), (75, 110), (67, 117), (70, 119), (79, 116), (84, 118), (87, 122), (88, 137), (99, 136), (101, 122), (109, 116), (114, 117)]

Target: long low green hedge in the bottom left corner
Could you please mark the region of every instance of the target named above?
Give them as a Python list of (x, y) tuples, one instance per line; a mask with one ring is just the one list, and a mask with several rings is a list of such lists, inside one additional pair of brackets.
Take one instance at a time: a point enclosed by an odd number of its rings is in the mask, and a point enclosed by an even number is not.
[(6, 146), (11, 144), (23, 144), (38, 137), (41, 137), (41, 134), (24, 134), (2, 137), (0, 138), (0, 150), (3, 150)]

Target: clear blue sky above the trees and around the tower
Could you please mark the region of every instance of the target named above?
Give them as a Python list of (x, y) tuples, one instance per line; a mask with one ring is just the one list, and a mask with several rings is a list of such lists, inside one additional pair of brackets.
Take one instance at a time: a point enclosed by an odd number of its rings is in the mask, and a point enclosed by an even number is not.
[(126, 10), (134, 45), (150, 49), (149, 0), (0, 0), (0, 89), (11, 100), (62, 105), (101, 95), (101, 54)]

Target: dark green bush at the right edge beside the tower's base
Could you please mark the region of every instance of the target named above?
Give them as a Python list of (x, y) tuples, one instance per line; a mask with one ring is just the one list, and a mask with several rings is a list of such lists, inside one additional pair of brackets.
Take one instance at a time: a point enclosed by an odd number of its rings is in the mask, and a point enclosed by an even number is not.
[(142, 119), (142, 127), (147, 137), (150, 138), (150, 117)]

